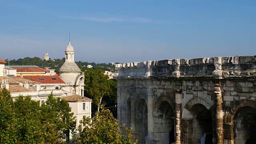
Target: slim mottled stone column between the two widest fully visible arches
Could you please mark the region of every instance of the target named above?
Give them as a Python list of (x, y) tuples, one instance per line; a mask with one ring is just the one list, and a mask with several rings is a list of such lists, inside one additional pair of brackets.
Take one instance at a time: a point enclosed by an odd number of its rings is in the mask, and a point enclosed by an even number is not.
[(182, 138), (181, 138), (181, 103), (182, 103), (182, 93), (180, 91), (176, 92), (175, 94), (175, 144), (181, 144)]

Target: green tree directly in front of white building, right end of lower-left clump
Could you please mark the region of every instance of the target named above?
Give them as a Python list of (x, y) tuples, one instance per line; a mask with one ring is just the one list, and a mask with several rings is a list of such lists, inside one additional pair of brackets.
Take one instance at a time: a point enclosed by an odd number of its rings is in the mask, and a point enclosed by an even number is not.
[(60, 97), (54, 98), (52, 94), (41, 106), (41, 120), (45, 125), (44, 134), (45, 143), (56, 143), (59, 140), (66, 139), (69, 130), (76, 126), (76, 120), (71, 112), (68, 102)]

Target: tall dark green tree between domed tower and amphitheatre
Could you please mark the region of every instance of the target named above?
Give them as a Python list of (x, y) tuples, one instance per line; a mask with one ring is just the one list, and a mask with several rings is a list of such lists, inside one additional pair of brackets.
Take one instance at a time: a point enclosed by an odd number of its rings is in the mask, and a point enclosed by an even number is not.
[(103, 96), (110, 96), (112, 92), (112, 81), (101, 70), (84, 71), (85, 92), (96, 104), (97, 111), (100, 111), (100, 105)]

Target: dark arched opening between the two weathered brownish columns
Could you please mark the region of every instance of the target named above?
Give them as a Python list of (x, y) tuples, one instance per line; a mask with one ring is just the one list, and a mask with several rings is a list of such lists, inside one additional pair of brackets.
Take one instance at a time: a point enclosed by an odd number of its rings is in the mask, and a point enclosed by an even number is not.
[(212, 116), (202, 104), (194, 104), (190, 109), (193, 114), (193, 144), (212, 144)]

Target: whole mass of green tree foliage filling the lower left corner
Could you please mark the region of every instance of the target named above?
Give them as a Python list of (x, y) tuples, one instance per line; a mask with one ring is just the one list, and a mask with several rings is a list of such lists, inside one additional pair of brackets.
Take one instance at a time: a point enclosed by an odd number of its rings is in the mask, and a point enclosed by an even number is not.
[(30, 96), (19, 96), (13, 101), (6, 88), (0, 91), (1, 144), (54, 144), (65, 140), (75, 126), (66, 100), (50, 94), (40, 105)]

